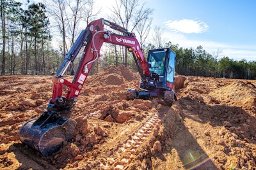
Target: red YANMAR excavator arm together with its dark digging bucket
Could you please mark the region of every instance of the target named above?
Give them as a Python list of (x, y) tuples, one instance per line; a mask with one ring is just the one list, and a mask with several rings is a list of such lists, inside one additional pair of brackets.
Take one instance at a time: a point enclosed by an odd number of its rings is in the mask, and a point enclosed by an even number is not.
[[(111, 27), (122, 34), (105, 30), (104, 26)], [(44, 111), (38, 119), (30, 120), (20, 128), (19, 139), (22, 143), (47, 156), (56, 152), (63, 141), (72, 139), (76, 127), (76, 121), (70, 118), (72, 108), (76, 104), (77, 97), (90, 73), (93, 62), (100, 57), (100, 48), (103, 43), (127, 47), (128, 51), (132, 52), (136, 66), (138, 66), (141, 80), (147, 83), (150, 71), (134, 34), (103, 18), (95, 20), (81, 32), (56, 72), (52, 80), (52, 99), (50, 99), (47, 111)], [(79, 67), (74, 80), (70, 82), (63, 78), (63, 75), (81, 50), (83, 50), (83, 54)], [(63, 86), (68, 87), (65, 97), (63, 97)]]

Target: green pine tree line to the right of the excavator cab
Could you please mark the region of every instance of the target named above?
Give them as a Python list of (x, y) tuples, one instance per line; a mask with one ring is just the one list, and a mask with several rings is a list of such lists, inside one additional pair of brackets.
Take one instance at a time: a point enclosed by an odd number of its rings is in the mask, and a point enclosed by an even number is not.
[(179, 45), (169, 43), (176, 53), (176, 71), (179, 74), (206, 76), (217, 78), (256, 79), (256, 61), (234, 60), (229, 57), (218, 59), (207, 53), (202, 46), (193, 48), (179, 48)]

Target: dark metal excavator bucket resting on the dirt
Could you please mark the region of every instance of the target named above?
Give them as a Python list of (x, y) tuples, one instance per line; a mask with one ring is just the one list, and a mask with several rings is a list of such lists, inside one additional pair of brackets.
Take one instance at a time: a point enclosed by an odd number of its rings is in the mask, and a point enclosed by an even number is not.
[(42, 122), (40, 119), (42, 117), (24, 124), (18, 135), (22, 143), (38, 150), (44, 156), (49, 156), (60, 149), (63, 141), (73, 138), (76, 121), (59, 117), (53, 122), (45, 123), (47, 121)]

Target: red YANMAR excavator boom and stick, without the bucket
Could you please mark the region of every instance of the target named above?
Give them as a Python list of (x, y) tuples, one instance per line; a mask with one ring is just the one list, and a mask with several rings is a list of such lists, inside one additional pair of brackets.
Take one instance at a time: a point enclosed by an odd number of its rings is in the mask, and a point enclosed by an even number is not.
[[(110, 31), (104, 31), (104, 25), (108, 25), (112, 29), (122, 31), (125, 35), (114, 34)], [(100, 48), (103, 43), (111, 43), (115, 45), (121, 45), (128, 48), (129, 52), (132, 52), (138, 71), (143, 81), (147, 81), (146, 76), (150, 75), (147, 61), (143, 56), (140, 44), (133, 33), (128, 32), (123, 27), (120, 27), (112, 22), (104, 19), (95, 20), (88, 27), (81, 32), (76, 42), (70, 49), (70, 52), (65, 57), (65, 60), (58, 69), (56, 76), (54, 77), (54, 90), (52, 93), (52, 102), (54, 99), (62, 96), (63, 85), (68, 86), (68, 93), (66, 98), (71, 99), (78, 97), (79, 92), (84, 85), (84, 81), (88, 77), (90, 69), (93, 66), (93, 62), (100, 57)], [(72, 83), (63, 78), (63, 74), (67, 70), (67, 67), (71, 62), (76, 59), (78, 52), (84, 47), (83, 57), (80, 61), (77, 69), (76, 76)]]

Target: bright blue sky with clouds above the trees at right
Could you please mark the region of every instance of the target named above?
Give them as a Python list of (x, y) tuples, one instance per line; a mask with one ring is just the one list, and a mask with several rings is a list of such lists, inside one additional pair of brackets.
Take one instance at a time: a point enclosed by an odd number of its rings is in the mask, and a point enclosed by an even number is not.
[[(255, 0), (143, 0), (152, 8), (154, 25), (164, 29), (163, 37), (179, 47), (218, 54), (218, 59), (256, 60)], [(115, 0), (96, 0), (108, 13)]]

